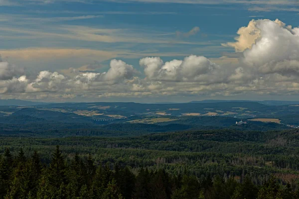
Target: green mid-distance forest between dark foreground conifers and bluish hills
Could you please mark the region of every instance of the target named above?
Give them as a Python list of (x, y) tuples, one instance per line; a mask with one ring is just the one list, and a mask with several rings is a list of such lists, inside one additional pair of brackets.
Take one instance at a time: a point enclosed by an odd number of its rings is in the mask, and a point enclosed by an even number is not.
[(93, 156), (99, 164), (164, 169), (171, 175), (183, 171), (204, 176), (243, 178), (249, 175), (256, 185), (276, 176), (296, 187), (299, 182), (299, 130), (238, 131), (231, 129), (154, 133), (133, 137), (73, 136), (64, 138), (0, 137), (0, 152), (6, 148), (17, 156), (23, 148), (26, 156), (34, 151), (45, 164), (51, 151), (60, 145), (67, 162), (76, 153)]

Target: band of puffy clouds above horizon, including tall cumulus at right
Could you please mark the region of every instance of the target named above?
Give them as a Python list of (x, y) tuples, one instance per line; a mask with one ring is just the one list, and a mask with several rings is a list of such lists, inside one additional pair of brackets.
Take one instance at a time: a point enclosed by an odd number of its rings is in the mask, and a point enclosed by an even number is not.
[(280, 20), (252, 20), (241, 27), (233, 47), (239, 58), (210, 60), (190, 55), (163, 61), (140, 60), (142, 71), (113, 59), (36, 75), (0, 60), (1, 98), (64, 99), (158, 96), (299, 95), (299, 28)]

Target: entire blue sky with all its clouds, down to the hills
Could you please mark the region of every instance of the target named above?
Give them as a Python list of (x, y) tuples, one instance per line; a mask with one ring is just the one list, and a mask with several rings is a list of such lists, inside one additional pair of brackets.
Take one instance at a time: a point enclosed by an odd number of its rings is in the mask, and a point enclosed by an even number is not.
[(0, 99), (299, 100), (299, 0), (0, 0)]

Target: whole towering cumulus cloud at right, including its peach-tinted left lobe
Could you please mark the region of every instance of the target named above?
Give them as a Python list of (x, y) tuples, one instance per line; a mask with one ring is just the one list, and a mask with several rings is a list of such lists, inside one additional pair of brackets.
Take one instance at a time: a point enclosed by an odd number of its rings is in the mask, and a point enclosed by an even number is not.
[(299, 75), (299, 28), (279, 19), (252, 20), (238, 34), (236, 42), (223, 45), (243, 53), (243, 67), (250, 67), (259, 75)]

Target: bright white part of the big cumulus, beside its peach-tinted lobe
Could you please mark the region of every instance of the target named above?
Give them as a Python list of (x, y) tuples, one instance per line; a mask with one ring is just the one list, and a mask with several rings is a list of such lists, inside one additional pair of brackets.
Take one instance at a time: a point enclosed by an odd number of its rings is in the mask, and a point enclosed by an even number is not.
[(257, 20), (255, 24), (261, 36), (251, 49), (244, 51), (243, 61), (246, 64), (260, 67), (270, 62), (276, 64), (299, 59), (299, 34), (296, 28), (293, 30), (280, 20)]

